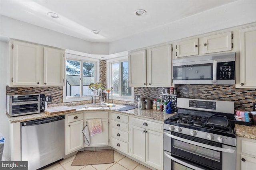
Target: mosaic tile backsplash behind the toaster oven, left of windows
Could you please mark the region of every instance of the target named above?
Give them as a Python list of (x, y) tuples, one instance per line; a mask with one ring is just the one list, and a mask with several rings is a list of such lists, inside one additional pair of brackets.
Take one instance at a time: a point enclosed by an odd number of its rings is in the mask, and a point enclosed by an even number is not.
[(6, 94), (21, 94), (21, 93), (44, 94), (46, 96), (52, 96), (51, 104), (63, 103), (63, 87), (9, 87), (9, 86), (6, 86)]

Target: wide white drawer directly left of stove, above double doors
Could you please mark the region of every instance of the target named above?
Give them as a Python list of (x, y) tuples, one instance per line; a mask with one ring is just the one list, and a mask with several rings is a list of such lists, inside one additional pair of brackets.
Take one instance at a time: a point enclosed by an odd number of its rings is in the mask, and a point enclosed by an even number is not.
[(153, 131), (159, 131), (159, 132), (163, 132), (163, 128), (164, 128), (164, 124), (156, 123), (156, 122), (148, 121), (144, 119), (138, 119), (136, 117), (132, 117), (132, 125), (143, 127)]

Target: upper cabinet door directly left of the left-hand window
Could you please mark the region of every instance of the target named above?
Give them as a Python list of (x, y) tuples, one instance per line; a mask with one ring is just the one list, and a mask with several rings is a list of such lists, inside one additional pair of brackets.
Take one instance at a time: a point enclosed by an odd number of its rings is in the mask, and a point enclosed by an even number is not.
[(64, 86), (64, 51), (44, 47), (44, 85)]

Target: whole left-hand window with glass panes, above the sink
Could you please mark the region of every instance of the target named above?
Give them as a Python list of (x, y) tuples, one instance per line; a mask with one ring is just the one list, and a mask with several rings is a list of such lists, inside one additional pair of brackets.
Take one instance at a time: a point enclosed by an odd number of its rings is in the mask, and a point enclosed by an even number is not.
[(91, 99), (93, 93), (89, 90), (89, 85), (98, 80), (98, 63), (97, 59), (66, 54), (64, 102)]

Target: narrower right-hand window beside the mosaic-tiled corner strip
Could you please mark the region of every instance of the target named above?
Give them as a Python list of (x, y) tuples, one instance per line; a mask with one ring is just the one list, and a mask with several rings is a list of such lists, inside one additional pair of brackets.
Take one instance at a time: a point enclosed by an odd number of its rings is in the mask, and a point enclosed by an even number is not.
[(107, 86), (113, 88), (113, 98), (133, 102), (133, 88), (129, 87), (128, 57), (107, 61)]

